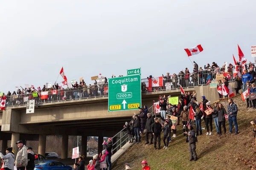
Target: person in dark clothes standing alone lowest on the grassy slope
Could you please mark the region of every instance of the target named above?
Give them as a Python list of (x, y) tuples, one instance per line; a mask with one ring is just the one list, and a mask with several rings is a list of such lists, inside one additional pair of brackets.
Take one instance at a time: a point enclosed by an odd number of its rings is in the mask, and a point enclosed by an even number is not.
[(189, 129), (189, 132), (186, 132), (186, 135), (188, 135), (186, 142), (189, 142), (189, 152), (190, 152), (190, 160), (189, 161), (192, 161), (193, 159), (194, 159), (194, 161), (197, 161), (198, 157), (197, 157), (197, 154), (195, 151), (195, 149), (196, 149), (195, 142), (198, 142), (197, 137), (196, 137), (195, 130), (192, 125), (189, 124), (188, 129)]

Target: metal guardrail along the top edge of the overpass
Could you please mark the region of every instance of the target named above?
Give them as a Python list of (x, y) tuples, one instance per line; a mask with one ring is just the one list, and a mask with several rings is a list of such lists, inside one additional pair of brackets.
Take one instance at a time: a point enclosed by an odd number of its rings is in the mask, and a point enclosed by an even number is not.
[[(250, 65), (253, 64), (255, 63), (248, 64), (248, 66), (250, 67)], [(217, 68), (199, 70), (197, 73), (181, 72), (180, 74), (174, 74), (173, 76), (164, 76), (163, 86), (161, 87), (148, 87), (148, 82), (151, 81), (151, 79), (141, 79), (141, 91), (142, 93), (152, 91), (170, 91), (180, 88), (180, 85), (183, 88), (192, 88), (199, 85), (208, 85), (208, 80), (212, 81), (213, 79), (215, 79), (216, 74), (220, 74), (221, 72), (224, 72), (224, 70), (225, 68)], [(233, 71), (233, 65), (228, 67), (228, 72), (230, 73), (231, 76), (229, 82), (234, 82)], [(239, 65), (239, 71), (242, 71), (241, 65)], [(41, 92), (37, 93), (38, 97), (34, 97), (32, 93), (6, 96), (6, 107), (26, 105), (26, 102), (31, 99), (35, 99), (35, 104), (40, 104), (48, 102), (59, 102), (65, 100), (67, 101), (76, 99), (89, 99), (95, 97), (108, 96), (108, 83), (102, 85), (82, 86), (78, 88), (66, 88), (56, 91), (57, 93), (53, 94), (52, 91), (49, 90), (48, 99), (41, 99)]]

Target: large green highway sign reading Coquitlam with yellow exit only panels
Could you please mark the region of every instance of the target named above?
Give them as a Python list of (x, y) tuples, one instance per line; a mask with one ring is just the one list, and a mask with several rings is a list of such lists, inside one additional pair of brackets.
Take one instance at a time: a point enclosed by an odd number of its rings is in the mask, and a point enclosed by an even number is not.
[(141, 107), (140, 74), (108, 79), (108, 111), (128, 111)]

